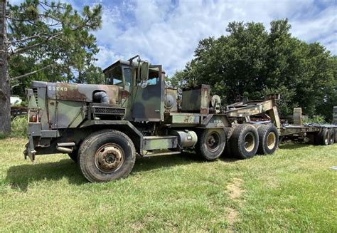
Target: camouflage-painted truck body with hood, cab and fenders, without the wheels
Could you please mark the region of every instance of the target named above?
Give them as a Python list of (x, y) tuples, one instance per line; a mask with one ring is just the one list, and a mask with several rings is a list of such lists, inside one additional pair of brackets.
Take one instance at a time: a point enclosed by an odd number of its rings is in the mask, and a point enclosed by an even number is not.
[[(131, 133), (140, 155), (178, 152), (178, 136), (168, 135), (171, 130), (231, 125), (226, 115), (208, 114), (208, 85), (183, 91), (180, 108), (177, 89), (166, 88), (160, 65), (117, 61), (103, 72), (106, 85), (33, 81), (27, 90), (30, 157), (58, 152), (57, 143), (78, 147), (95, 130), (105, 128)], [(109, 103), (96, 103), (96, 92), (105, 92)]]

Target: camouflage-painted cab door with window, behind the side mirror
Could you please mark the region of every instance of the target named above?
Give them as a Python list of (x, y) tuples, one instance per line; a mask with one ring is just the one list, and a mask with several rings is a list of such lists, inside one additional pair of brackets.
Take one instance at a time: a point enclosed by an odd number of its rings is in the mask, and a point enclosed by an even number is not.
[(147, 86), (143, 88), (140, 84), (136, 78), (132, 90), (132, 118), (135, 121), (164, 120), (165, 83), (161, 66), (149, 66)]

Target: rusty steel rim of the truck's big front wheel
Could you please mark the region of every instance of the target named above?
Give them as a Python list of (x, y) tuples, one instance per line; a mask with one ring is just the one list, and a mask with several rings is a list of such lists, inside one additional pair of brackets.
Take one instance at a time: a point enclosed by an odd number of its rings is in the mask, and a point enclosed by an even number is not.
[(95, 166), (105, 173), (119, 170), (124, 163), (124, 150), (115, 143), (102, 145), (95, 153)]

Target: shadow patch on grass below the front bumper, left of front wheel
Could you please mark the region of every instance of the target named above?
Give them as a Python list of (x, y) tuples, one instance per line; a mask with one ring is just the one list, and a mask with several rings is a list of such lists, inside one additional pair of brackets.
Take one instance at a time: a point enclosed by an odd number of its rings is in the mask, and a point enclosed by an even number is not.
[(6, 182), (11, 184), (12, 189), (26, 192), (30, 183), (42, 180), (61, 180), (63, 177), (66, 177), (73, 185), (87, 182), (75, 162), (70, 159), (9, 167)]

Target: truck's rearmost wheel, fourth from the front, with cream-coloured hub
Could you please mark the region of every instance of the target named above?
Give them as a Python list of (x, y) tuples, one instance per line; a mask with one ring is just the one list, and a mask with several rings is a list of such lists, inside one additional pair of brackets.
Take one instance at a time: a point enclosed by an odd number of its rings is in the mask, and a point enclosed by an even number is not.
[(279, 133), (274, 125), (261, 125), (257, 128), (259, 135), (259, 147), (257, 154), (271, 155), (279, 145)]

